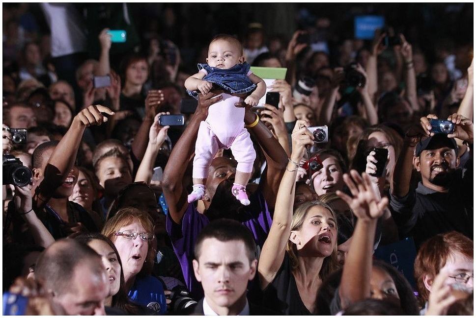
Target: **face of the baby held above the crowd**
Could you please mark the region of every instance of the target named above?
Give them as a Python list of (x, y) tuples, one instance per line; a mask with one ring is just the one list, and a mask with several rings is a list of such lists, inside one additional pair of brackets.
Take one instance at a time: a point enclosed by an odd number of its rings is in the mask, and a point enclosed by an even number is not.
[(216, 40), (208, 47), (207, 63), (211, 67), (230, 69), (238, 63), (243, 63), (245, 58), (242, 53), (235, 43)]

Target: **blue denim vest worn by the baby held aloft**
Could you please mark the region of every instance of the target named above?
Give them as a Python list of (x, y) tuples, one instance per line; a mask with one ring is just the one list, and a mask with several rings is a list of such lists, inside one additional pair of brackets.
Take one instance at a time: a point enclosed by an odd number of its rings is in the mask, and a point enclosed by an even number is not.
[[(203, 80), (216, 84), (225, 91), (232, 94), (246, 94), (252, 92), (256, 88), (251, 79), (247, 76), (250, 71), (250, 64), (236, 64), (231, 69), (223, 70), (216, 67), (210, 67), (208, 64), (198, 64), (198, 70), (204, 69), (207, 75)], [(190, 96), (197, 98), (196, 91), (187, 90)]]

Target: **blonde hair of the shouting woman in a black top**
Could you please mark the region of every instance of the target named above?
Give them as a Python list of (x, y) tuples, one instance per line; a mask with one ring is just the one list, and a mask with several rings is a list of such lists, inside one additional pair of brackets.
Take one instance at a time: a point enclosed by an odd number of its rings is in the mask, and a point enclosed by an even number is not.
[[(314, 206), (322, 206), (323, 208), (329, 210), (331, 216), (334, 220), (337, 220), (336, 214), (334, 213), (333, 209), (324, 202), (321, 201), (311, 201), (311, 202), (304, 202), (302, 205), (296, 208), (293, 214), (293, 219), (291, 221), (291, 231), (299, 231), (303, 226), (304, 219), (308, 215), (309, 210)], [(336, 221), (336, 231), (337, 229), (337, 221)], [(291, 269), (298, 268), (298, 250), (296, 245), (289, 240), (287, 242), (286, 250), (289, 254), (289, 258), (291, 261)], [(319, 271), (319, 278), (324, 279), (327, 277), (332, 271), (338, 268), (337, 266), (337, 242), (334, 246), (334, 250), (332, 254), (324, 259), (322, 264), (322, 268)]]

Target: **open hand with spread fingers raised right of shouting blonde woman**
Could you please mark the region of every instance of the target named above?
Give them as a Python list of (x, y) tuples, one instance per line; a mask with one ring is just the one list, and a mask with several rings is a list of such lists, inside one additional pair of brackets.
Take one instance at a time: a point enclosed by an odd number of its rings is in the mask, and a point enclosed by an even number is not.
[(350, 175), (344, 174), (344, 182), (352, 196), (342, 191), (337, 191), (336, 195), (349, 205), (359, 220), (377, 220), (384, 214), (389, 200), (384, 197), (379, 202), (367, 173), (363, 172), (361, 177), (357, 171), (351, 170)]

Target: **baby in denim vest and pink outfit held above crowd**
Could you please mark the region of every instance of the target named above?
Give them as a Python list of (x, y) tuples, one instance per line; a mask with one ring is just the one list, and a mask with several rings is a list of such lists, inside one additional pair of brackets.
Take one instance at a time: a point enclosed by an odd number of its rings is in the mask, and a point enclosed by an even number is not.
[(208, 109), (208, 116), (200, 122), (195, 144), (193, 168), (194, 190), (188, 196), (188, 202), (201, 199), (205, 194), (208, 168), (219, 149), (231, 148), (238, 162), (235, 183), (231, 193), (243, 205), (249, 205), (246, 185), (250, 180), (256, 153), (250, 139), (250, 133), (244, 127), (245, 109), (236, 107), (240, 98), (231, 94), (246, 94), (252, 92), (245, 103), (256, 106), (266, 93), (266, 84), (250, 71), (250, 65), (245, 61), (241, 43), (226, 34), (217, 35), (208, 47), (208, 64), (198, 64), (199, 72), (185, 81), (189, 94), (196, 97), (199, 91), (207, 94), (213, 84), (223, 88), (223, 99)]

